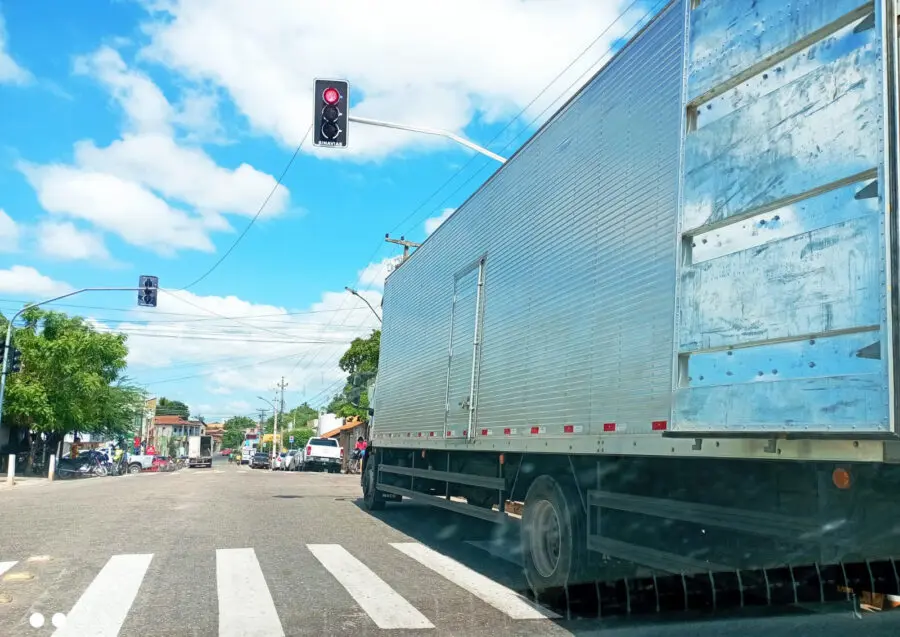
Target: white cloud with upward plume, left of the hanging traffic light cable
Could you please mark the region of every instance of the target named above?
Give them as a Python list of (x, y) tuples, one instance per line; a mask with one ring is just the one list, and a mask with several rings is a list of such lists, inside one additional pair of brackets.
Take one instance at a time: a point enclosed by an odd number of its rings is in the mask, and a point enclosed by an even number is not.
[[(177, 141), (178, 130), (211, 116), (211, 93), (187, 91), (179, 110), (109, 47), (78, 58), (75, 68), (110, 91), (125, 113), (125, 133), (106, 147), (76, 143), (71, 165), (20, 164), (48, 212), (162, 255), (212, 252), (210, 233), (232, 229), (224, 215), (254, 215), (275, 188), (271, 175), (248, 164), (219, 166), (201, 149)], [(265, 214), (284, 211), (288, 200), (287, 189), (278, 186)]]

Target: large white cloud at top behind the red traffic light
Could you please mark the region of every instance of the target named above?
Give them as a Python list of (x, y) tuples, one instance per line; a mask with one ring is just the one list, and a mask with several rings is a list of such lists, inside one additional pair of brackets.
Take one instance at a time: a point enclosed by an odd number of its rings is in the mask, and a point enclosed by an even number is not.
[[(358, 115), (459, 132), (476, 115), (498, 119), (528, 103), (626, 4), (346, 0), (298, 11), (290, 0), (145, 0), (152, 40), (144, 55), (221, 87), (257, 130), (286, 145), (309, 126), (314, 77), (348, 78)], [(612, 26), (531, 114), (605, 62), (637, 17)], [(349, 153), (321, 155), (378, 158), (445, 143), (361, 125), (350, 140)]]

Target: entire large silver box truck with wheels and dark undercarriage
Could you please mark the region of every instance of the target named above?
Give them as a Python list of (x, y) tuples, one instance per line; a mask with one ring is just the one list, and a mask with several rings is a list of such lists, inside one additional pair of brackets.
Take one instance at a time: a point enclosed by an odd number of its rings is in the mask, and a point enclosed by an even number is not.
[(667, 5), (388, 277), (366, 505), (900, 592), (895, 4)]

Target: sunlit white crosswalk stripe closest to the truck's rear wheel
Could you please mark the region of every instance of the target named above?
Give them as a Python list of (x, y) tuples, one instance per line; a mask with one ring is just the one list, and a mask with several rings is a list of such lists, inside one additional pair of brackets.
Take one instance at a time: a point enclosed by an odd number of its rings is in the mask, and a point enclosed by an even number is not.
[(392, 542), (391, 546), (513, 619), (559, 618), (556, 613), (423, 544)]

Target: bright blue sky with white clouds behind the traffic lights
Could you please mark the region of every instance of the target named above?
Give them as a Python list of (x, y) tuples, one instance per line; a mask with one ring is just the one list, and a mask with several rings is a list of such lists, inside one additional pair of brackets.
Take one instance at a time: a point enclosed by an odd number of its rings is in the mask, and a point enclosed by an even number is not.
[(289, 406), (327, 402), (377, 325), (344, 286), (377, 307), (399, 254), (384, 234), (425, 239), (497, 164), (353, 126), (347, 151), (304, 147), (235, 250), (178, 291), (275, 186), (313, 77), (349, 79), (358, 115), (509, 155), (644, 17), (614, 22), (627, 4), (0, 1), (0, 311), (155, 274), (155, 311), (127, 292), (57, 307), (128, 333), (129, 375), (208, 418), (264, 406), (282, 375)]

